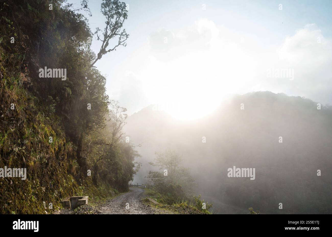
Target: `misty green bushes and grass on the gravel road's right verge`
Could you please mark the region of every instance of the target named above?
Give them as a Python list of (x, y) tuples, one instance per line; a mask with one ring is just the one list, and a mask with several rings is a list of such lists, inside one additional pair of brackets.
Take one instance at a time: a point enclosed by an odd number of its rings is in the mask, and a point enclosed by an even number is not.
[(156, 158), (150, 164), (159, 171), (149, 172), (145, 194), (164, 204), (160, 208), (179, 213), (212, 214), (212, 204), (201, 200), (201, 195), (193, 196), (195, 183), (190, 170), (180, 165), (181, 157), (172, 150), (155, 154)]

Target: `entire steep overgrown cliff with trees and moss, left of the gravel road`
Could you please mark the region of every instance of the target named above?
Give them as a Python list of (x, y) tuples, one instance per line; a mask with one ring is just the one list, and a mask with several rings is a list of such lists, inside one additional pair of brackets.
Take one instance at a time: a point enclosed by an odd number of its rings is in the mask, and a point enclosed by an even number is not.
[[(0, 168), (26, 169), (25, 178), (0, 178), (0, 213), (50, 213), (68, 196), (113, 195), (135, 172), (133, 147), (110, 142), (116, 123), (105, 123), (110, 101), (106, 78), (90, 66), (88, 23), (61, 4), (0, 1)], [(40, 76), (45, 67), (49, 77)]]

